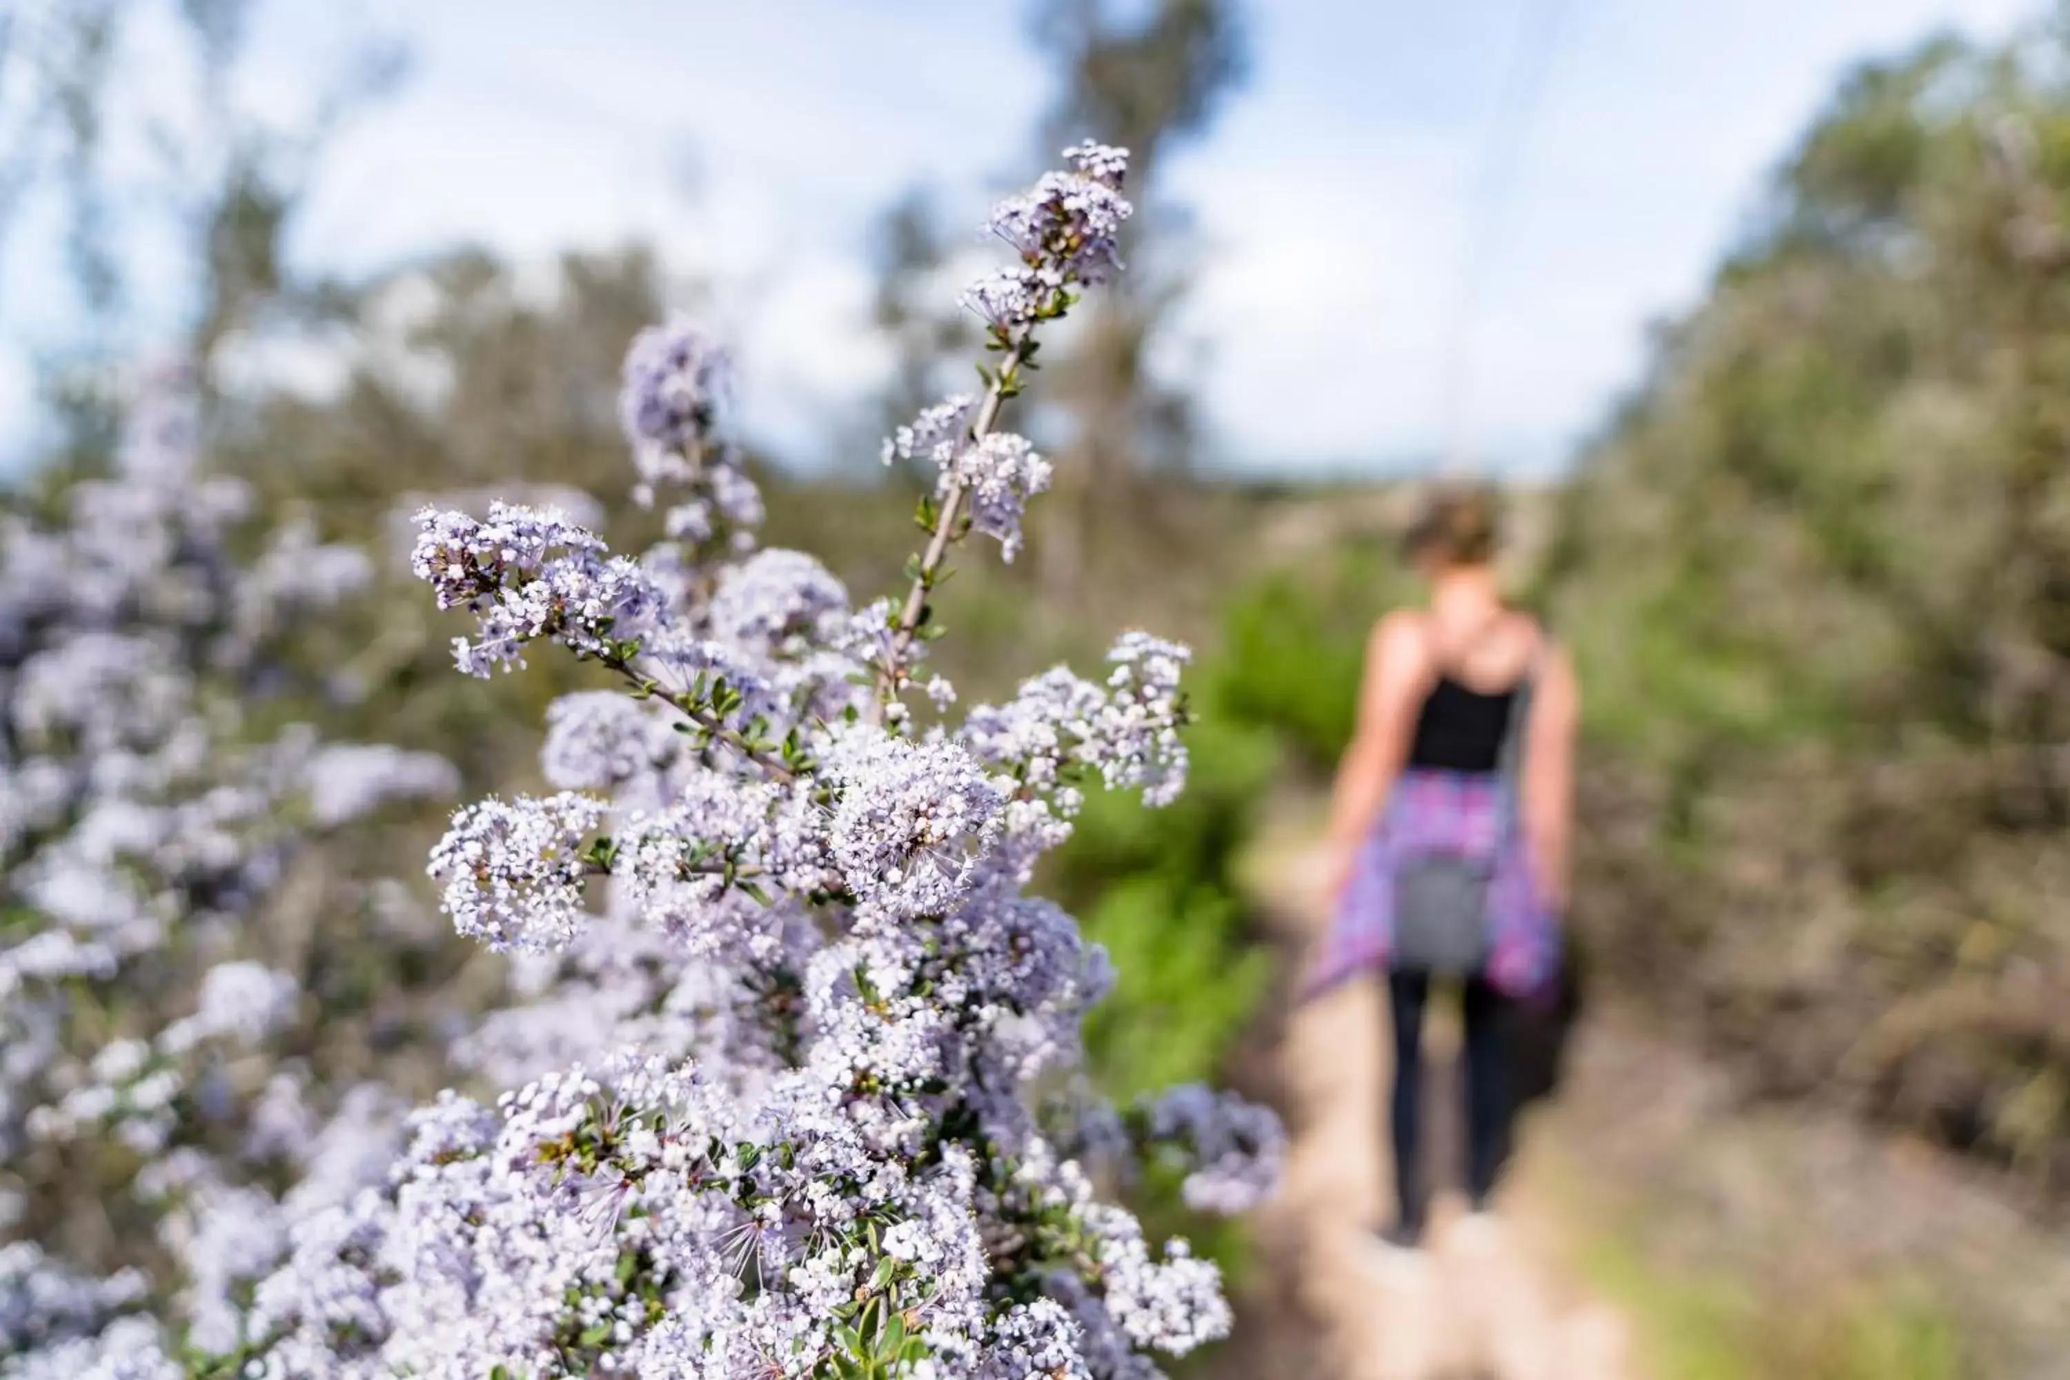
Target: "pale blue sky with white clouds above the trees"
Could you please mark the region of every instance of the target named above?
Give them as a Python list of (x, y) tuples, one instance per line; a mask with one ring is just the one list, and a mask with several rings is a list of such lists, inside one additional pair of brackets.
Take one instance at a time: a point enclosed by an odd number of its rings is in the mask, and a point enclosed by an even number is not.
[[(1635, 381), (1648, 321), (1702, 292), (1855, 58), (1940, 27), (2002, 35), (2035, 8), (1252, 0), (1252, 79), (1170, 182), (1209, 244), (1163, 360), (1213, 424), (1203, 463), (1377, 474), (1457, 447), (1490, 468), (1557, 468)], [(360, 273), (455, 240), (528, 263), (652, 240), (714, 279), (745, 422), (801, 463), (828, 457), (884, 364), (859, 329), (871, 217), (927, 180), (975, 226), (1027, 170), (1049, 95), (1021, 6), (1000, 2), (261, 12), (244, 93), (261, 108), (306, 101), (354, 25), (414, 54), (408, 85), (331, 149), (296, 257)], [(1540, 58), (1519, 60), (1546, 31)], [(132, 70), (147, 93), (149, 52)], [(1507, 124), (1521, 130), (1513, 176), (1499, 215), (1476, 215), (1519, 72), (1540, 81), (1530, 120)], [(0, 453), (17, 455), (31, 447), (27, 358), (68, 325), (35, 230), (0, 261)], [(145, 275), (141, 335), (178, 304), (164, 263)]]

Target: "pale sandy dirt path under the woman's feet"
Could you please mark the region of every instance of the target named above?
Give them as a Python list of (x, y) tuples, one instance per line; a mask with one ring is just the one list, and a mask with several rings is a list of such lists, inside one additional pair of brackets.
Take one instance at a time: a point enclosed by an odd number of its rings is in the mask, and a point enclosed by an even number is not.
[[(1261, 842), (1254, 890), (1288, 946), (1321, 923), (1312, 832)], [(1492, 1219), (1457, 1196), (1432, 1208), (1430, 1250), (1389, 1252), (1381, 1097), (1389, 1078), (1374, 985), (1285, 1016), (1273, 1053), (1292, 1148), (1285, 1183), (1259, 1221), (1265, 1264), (1312, 1326), (1321, 1374), (1341, 1380), (1637, 1380), (1629, 1328), (1559, 1266), (1557, 1212), (1534, 1200), (1530, 1144)], [(1432, 1030), (1432, 1063), (1453, 1032)], [(1441, 1107), (1441, 1115), (1449, 1113)], [(1443, 1181), (1443, 1179), (1441, 1179)]]

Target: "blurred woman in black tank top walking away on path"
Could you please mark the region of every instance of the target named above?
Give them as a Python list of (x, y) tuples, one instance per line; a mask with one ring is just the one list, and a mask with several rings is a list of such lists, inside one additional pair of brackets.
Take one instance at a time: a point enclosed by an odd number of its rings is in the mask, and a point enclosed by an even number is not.
[(1565, 652), (1505, 606), (1495, 503), (1439, 494), (1408, 536), (1428, 606), (1372, 629), (1358, 732), (1331, 815), (1335, 917), (1310, 993), (1387, 972), (1399, 1212), (1383, 1237), (1420, 1243), (1422, 1024), (1432, 979), (1466, 1020), (1466, 1190), (1482, 1212), (1515, 1113), (1503, 1034), (1511, 1003), (1548, 991), (1567, 898), (1579, 691)]

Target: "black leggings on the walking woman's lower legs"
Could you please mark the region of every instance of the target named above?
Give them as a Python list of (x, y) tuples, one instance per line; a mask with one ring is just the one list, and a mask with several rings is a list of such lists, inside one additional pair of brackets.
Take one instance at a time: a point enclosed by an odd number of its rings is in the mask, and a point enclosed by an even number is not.
[[(1428, 972), (1389, 972), (1387, 995), (1395, 1024), (1395, 1194), (1401, 1227), (1420, 1233), (1430, 1190), (1422, 1171), (1422, 1022), (1430, 1006)], [(1466, 1099), (1466, 1192), (1476, 1208), (1495, 1192), (1495, 1175), (1509, 1159), (1509, 1123), (1515, 1111), (1509, 1090), (1505, 1018), (1509, 999), (1484, 979), (1468, 979), (1466, 1049), (1459, 1061)]]

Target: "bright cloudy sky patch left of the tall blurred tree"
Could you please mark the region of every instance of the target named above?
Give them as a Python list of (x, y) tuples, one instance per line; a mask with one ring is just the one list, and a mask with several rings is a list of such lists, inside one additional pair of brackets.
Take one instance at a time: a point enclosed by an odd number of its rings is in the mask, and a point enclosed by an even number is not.
[(449, 240), (534, 261), (650, 240), (710, 290), (747, 432), (801, 463), (884, 374), (871, 219), (931, 180), (965, 190), (975, 228), (977, 182), (1025, 153), (1041, 101), (1004, 10), (518, 4), (493, 50), (482, 6), (395, 19), (418, 79), (339, 149), (300, 252), (375, 267)]

